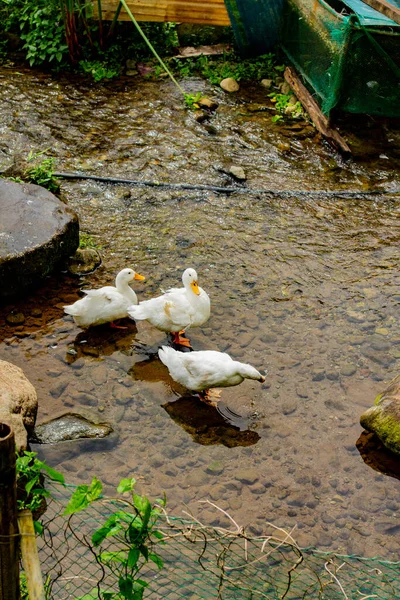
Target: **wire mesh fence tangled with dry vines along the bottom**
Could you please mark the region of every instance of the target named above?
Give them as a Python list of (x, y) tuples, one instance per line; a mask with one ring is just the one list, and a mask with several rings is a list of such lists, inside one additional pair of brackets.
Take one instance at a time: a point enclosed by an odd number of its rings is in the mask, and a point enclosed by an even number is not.
[[(91, 536), (116, 510), (103, 498), (83, 512), (62, 513), (68, 489), (52, 486), (53, 499), (42, 517), (38, 538), (42, 571), (51, 600), (81, 598), (92, 592), (118, 592), (118, 581), (104, 568)], [(157, 554), (164, 566), (149, 561), (140, 572), (151, 600), (395, 600), (400, 598), (400, 561), (361, 558), (301, 549), (290, 533), (267, 524), (263, 537), (251, 537), (218, 506), (226, 526), (164, 513), (157, 529), (163, 539)], [(115, 550), (109, 542), (109, 551)], [(101, 590), (101, 592), (100, 592)]]

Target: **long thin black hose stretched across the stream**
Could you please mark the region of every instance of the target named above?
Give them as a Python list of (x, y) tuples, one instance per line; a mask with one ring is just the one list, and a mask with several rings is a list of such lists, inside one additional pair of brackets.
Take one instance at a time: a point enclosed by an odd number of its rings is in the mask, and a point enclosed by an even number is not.
[(201, 185), (191, 183), (168, 183), (164, 181), (136, 181), (134, 179), (123, 179), (120, 177), (101, 177), (100, 175), (84, 175), (81, 173), (54, 173), (55, 177), (62, 179), (90, 179), (92, 181), (100, 181), (102, 183), (124, 183), (128, 185), (134, 185), (138, 187), (154, 187), (164, 188), (170, 190), (197, 190), (207, 192), (218, 192), (220, 194), (268, 194), (270, 196), (325, 196), (328, 198), (339, 197), (339, 198), (356, 198), (359, 196), (380, 196), (382, 194), (395, 195), (400, 193), (400, 189), (395, 190), (368, 190), (368, 191), (353, 191), (353, 190), (337, 190), (337, 191), (323, 191), (323, 190), (252, 190), (246, 187), (222, 187), (218, 185)]

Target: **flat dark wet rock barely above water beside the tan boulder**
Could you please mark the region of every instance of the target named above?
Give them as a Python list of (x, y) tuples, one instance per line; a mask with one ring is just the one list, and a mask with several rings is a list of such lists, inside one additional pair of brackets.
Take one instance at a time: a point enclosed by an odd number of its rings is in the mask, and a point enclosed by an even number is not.
[(67, 413), (35, 427), (33, 440), (39, 444), (56, 444), (79, 438), (103, 438), (113, 431), (108, 423), (92, 423), (82, 415)]

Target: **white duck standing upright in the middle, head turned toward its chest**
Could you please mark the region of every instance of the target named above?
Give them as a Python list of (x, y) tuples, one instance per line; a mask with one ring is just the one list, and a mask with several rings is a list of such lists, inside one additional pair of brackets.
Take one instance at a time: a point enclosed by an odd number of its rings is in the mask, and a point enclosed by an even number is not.
[(182, 275), (183, 288), (167, 290), (162, 296), (130, 306), (128, 313), (135, 320), (146, 320), (161, 331), (174, 334), (174, 342), (189, 346), (181, 334), (189, 327), (199, 327), (210, 317), (210, 298), (197, 283), (194, 269)]

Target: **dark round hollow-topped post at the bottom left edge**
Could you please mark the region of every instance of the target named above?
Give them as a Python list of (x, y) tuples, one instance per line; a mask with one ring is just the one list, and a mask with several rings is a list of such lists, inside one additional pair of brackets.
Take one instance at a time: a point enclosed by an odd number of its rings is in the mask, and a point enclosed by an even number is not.
[(0, 423), (0, 600), (19, 600), (19, 535), (14, 432)]

